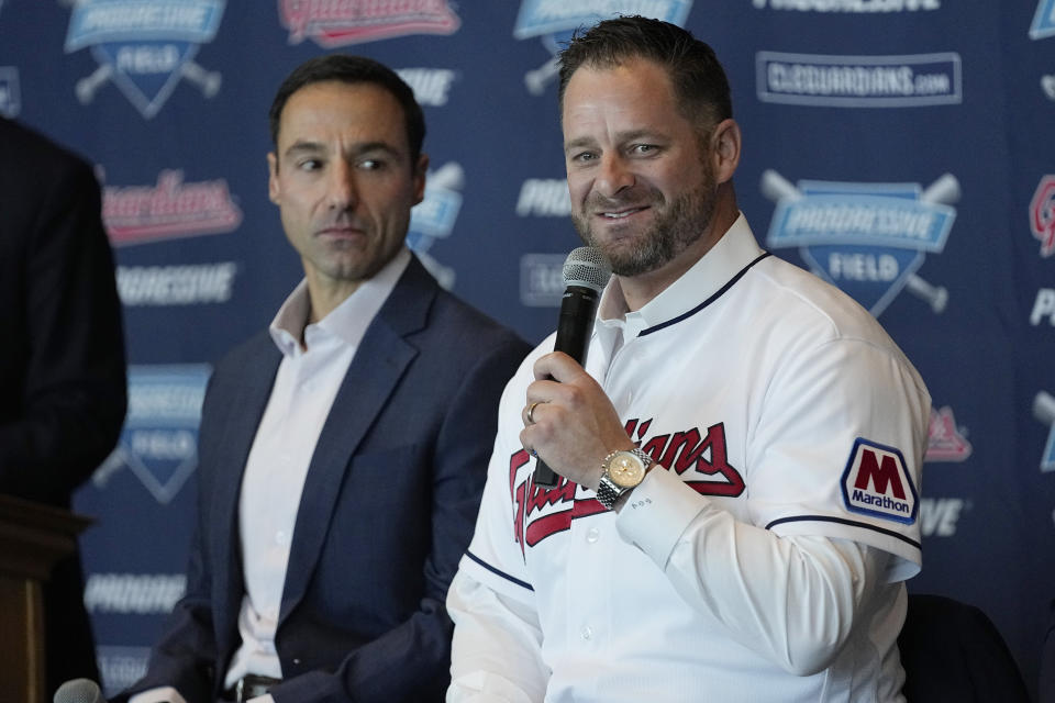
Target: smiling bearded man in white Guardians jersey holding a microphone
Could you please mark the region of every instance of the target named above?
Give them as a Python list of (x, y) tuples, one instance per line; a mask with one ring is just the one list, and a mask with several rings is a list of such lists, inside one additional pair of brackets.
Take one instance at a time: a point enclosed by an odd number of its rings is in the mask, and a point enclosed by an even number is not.
[(551, 337), (503, 394), (447, 700), (903, 701), (922, 380), (758, 248), (709, 46), (620, 18), (560, 62), (573, 217), (615, 276), (585, 370)]

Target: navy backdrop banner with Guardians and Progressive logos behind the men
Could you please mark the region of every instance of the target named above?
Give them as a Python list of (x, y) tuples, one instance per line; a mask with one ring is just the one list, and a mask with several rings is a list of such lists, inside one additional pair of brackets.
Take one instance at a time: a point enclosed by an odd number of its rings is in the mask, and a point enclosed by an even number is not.
[(184, 589), (211, 365), (301, 276), (267, 199), (278, 83), (334, 51), (398, 69), (431, 155), (410, 245), (538, 341), (578, 245), (554, 55), (619, 12), (714, 46), (760, 243), (852, 294), (920, 369), (934, 411), (910, 589), (981, 606), (1035, 691), (1055, 598), (1055, 0), (0, 0), (0, 113), (98, 166), (116, 254), (129, 415), (76, 496), (98, 518), (85, 599), (109, 692)]

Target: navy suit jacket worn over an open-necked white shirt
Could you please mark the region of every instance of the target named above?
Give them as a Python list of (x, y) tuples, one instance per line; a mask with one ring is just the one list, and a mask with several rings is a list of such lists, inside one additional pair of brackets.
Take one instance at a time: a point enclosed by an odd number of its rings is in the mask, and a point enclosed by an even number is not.
[[(276, 635), (276, 702), (443, 699), (446, 591), (473, 535), (499, 398), (528, 352), (411, 260), (311, 459)], [(242, 473), (279, 361), (263, 333), (210, 380), (188, 590), (133, 691), (174, 685), (189, 703), (221, 692), (241, 644)]]

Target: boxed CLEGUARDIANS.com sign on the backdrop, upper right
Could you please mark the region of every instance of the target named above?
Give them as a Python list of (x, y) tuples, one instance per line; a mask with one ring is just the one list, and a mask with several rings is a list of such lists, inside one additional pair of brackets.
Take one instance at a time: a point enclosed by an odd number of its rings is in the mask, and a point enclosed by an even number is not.
[(758, 52), (758, 99), (830, 108), (921, 108), (963, 102), (959, 54), (828, 56)]

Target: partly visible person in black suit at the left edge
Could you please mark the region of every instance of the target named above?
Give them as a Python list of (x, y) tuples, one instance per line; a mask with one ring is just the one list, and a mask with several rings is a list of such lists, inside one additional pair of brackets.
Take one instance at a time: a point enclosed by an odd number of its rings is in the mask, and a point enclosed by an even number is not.
[[(69, 509), (125, 410), (113, 257), (91, 167), (0, 118), (0, 493)], [(44, 584), (46, 687), (96, 677), (77, 555)]]

